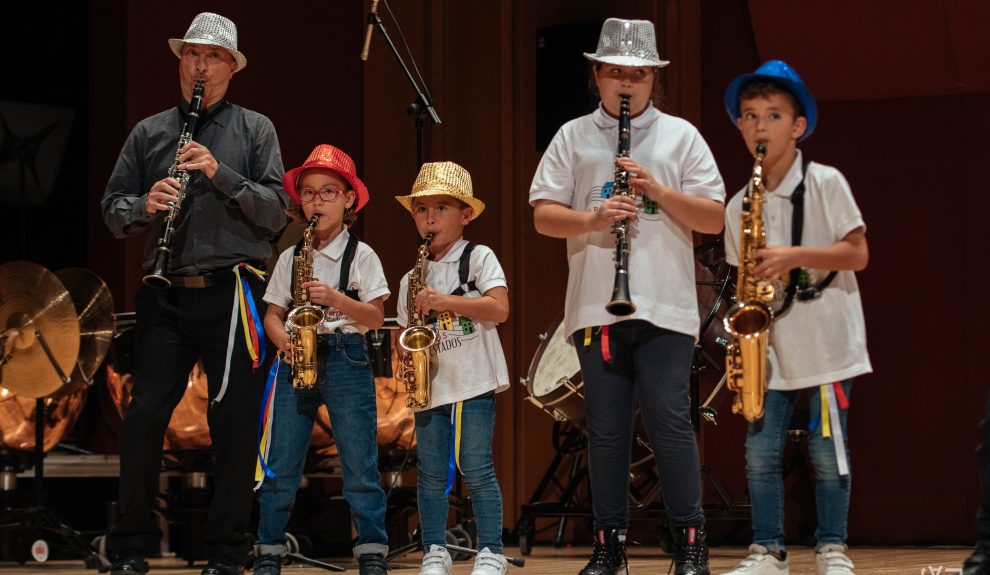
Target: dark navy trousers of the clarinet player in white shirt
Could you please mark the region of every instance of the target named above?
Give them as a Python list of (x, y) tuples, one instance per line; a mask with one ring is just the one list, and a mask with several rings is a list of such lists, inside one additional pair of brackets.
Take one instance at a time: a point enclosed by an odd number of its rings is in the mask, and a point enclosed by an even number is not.
[(694, 338), (627, 320), (609, 328), (612, 361), (602, 357), (596, 328), (589, 347), (573, 336), (584, 375), (588, 467), (595, 527), (629, 525), (629, 466), (636, 404), (656, 458), (667, 518), (701, 527), (701, 466), (688, 395)]

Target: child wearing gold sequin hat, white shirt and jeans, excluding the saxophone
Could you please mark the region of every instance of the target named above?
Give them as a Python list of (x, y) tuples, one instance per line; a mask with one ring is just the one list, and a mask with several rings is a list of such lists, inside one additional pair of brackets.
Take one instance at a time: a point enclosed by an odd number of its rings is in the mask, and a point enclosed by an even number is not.
[(426, 405), (413, 407), (424, 550), (420, 575), (451, 573), (445, 536), (447, 496), (454, 480), (451, 460), (471, 490), (478, 527), (481, 551), (471, 574), (504, 575), (502, 493), (492, 461), (492, 434), (495, 394), (509, 387), (495, 330), (509, 317), (509, 295), (495, 253), (463, 237), (464, 226), (481, 215), (485, 204), (474, 197), (468, 171), (453, 162), (424, 164), (412, 193), (396, 199), (412, 214), (420, 237), (432, 234), (425, 287), (410, 293), (412, 272), (407, 273), (397, 305), (400, 325), (406, 327), (410, 312), (418, 312), (437, 334), (429, 348), (431, 397)]

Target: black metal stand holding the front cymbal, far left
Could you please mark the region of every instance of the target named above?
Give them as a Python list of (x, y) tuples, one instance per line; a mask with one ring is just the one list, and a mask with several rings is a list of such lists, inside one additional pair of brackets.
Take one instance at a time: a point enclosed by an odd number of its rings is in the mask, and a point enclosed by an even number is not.
[[(71, 381), (71, 378), (65, 375), (62, 368), (55, 361), (55, 357), (52, 355), (51, 349), (48, 347), (48, 342), (45, 341), (44, 334), (41, 330), (36, 329), (35, 337), (37, 337), (38, 342), (41, 344), (41, 348), (45, 351), (45, 355), (48, 356), (48, 361), (52, 364), (55, 369), (55, 373), (58, 374), (59, 379), (62, 380), (64, 384)], [(45, 476), (45, 400), (39, 397), (35, 400), (35, 411), (34, 411), (34, 507), (29, 507), (26, 509), (9, 509), (0, 515), (0, 530), (6, 529), (40, 529), (51, 531), (62, 536), (62, 539), (72, 548), (73, 551), (79, 554), (82, 560), (85, 562), (86, 567), (90, 569), (99, 569), (100, 571), (106, 571), (110, 568), (110, 563), (102, 555), (100, 555), (93, 545), (87, 541), (81, 533), (76, 531), (69, 525), (69, 523), (63, 519), (58, 513), (48, 509), (44, 506), (45, 504), (45, 486), (44, 486), (44, 476)]]

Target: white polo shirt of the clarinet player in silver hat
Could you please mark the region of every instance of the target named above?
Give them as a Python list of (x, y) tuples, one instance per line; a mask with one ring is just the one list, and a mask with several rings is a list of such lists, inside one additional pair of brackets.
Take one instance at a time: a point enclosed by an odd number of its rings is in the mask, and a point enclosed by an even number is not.
[[(564, 124), (536, 169), (530, 204), (552, 200), (578, 211), (597, 210), (612, 189), (618, 126), (619, 121), (600, 106)], [(630, 140), (630, 157), (657, 182), (689, 196), (725, 201), (725, 186), (711, 150), (686, 120), (650, 106), (632, 119)], [(700, 320), (691, 230), (649, 200), (629, 229), (629, 293), (636, 312), (618, 317), (605, 311), (615, 282), (611, 230), (567, 238), (564, 333), (643, 319), (697, 338)]]

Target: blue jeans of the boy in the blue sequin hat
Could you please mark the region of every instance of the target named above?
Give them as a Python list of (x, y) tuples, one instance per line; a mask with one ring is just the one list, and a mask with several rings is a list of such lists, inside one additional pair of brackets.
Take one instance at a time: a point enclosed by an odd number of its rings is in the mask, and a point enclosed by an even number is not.
[[(852, 380), (842, 382), (846, 397), (852, 392)], [(817, 546), (846, 541), (849, 515), (849, 487), (852, 474), (839, 475), (832, 437), (822, 437), (821, 388), (808, 390), (809, 416), (818, 426), (808, 436), (808, 452), (815, 469), (815, 507), (818, 528)], [(784, 478), (780, 460), (787, 441), (791, 414), (801, 391), (768, 390), (764, 401), (763, 419), (749, 424), (746, 436), (746, 477), (749, 498), (753, 504), (753, 542), (770, 551), (784, 549)], [(849, 459), (847, 410), (839, 410), (842, 437)], [(828, 417), (827, 415), (824, 415)]]

